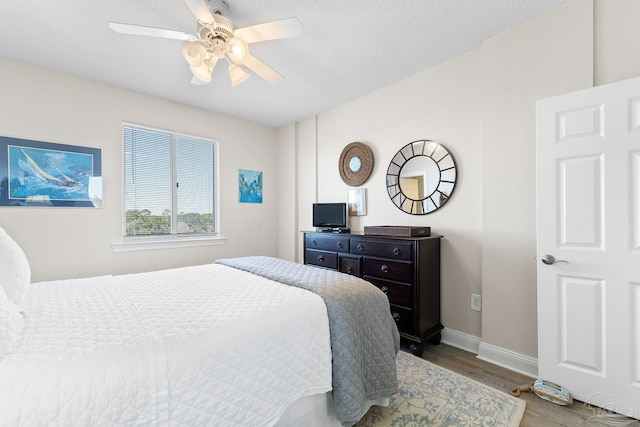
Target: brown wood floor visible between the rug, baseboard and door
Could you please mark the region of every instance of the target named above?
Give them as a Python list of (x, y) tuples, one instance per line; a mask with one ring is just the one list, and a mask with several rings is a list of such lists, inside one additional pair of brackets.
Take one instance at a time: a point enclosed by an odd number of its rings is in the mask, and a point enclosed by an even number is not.
[[(518, 372), (480, 360), (473, 353), (442, 343), (426, 344), (422, 358), (505, 393), (534, 380)], [(560, 406), (542, 400), (530, 392), (521, 394), (520, 398), (527, 402), (521, 427), (600, 425), (586, 423), (586, 420), (594, 415), (594, 411), (582, 402), (576, 401), (571, 406)]]

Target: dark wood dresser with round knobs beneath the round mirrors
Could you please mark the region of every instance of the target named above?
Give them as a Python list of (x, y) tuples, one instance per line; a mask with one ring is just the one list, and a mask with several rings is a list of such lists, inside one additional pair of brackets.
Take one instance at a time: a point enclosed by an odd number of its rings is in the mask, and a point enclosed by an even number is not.
[(440, 331), (440, 239), (304, 233), (304, 263), (353, 274), (389, 297), (400, 336), (414, 354)]

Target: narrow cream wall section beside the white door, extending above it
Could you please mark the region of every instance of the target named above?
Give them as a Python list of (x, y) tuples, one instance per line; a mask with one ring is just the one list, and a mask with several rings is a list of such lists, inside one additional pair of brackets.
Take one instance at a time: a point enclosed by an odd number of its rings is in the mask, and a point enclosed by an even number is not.
[(593, 85), (592, 1), (499, 34), (482, 54), (482, 340), (535, 356), (535, 102)]

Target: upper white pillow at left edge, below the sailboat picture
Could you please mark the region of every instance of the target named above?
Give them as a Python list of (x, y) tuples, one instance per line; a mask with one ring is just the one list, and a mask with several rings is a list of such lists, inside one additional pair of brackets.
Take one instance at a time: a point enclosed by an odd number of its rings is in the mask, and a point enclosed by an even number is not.
[(21, 306), (29, 291), (31, 269), (18, 244), (0, 227), (0, 286), (6, 298)]

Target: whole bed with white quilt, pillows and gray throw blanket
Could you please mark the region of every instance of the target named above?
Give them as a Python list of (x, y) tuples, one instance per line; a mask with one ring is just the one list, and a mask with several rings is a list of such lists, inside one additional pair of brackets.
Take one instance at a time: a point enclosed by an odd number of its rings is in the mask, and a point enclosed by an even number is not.
[(0, 228), (0, 425), (352, 425), (397, 389), (388, 301), (351, 276), (246, 257), (29, 279)]

